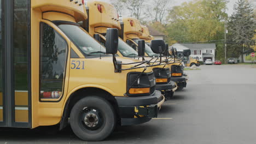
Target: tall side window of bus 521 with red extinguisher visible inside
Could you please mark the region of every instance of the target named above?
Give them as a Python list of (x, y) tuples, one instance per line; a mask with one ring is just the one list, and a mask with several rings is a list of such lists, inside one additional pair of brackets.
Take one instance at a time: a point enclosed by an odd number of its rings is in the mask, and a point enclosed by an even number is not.
[(40, 98), (58, 99), (63, 92), (67, 42), (52, 27), (40, 23)]

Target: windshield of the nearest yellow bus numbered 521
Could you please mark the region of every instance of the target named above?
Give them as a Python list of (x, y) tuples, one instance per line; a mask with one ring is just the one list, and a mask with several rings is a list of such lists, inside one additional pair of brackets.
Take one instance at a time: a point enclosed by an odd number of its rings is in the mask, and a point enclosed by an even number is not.
[(106, 54), (106, 49), (82, 28), (72, 23), (57, 23), (57, 26), (79, 47), (85, 55)]

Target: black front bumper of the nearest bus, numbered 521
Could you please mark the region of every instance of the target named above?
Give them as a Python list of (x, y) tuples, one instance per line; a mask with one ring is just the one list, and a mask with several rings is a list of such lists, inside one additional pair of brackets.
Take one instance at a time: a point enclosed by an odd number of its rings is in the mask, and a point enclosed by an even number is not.
[(152, 95), (115, 97), (118, 103), (118, 113), (121, 125), (135, 125), (146, 123), (154, 117), (158, 117), (161, 105), (165, 101), (160, 91)]

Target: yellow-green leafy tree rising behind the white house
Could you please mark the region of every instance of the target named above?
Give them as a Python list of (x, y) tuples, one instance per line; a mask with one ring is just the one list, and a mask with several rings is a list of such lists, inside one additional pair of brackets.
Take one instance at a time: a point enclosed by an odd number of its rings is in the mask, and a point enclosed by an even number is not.
[(168, 15), (168, 37), (181, 43), (223, 39), (223, 21), (228, 17), (224, 12), (226, 3), (226, 0), (201, 0), (173, 7)]

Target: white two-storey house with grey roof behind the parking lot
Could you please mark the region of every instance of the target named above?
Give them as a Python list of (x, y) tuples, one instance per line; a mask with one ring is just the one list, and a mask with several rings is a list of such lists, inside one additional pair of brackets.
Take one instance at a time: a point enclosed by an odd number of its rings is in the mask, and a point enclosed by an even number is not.
[(200, 62), (212, 59), (215, 62), (216, 44), (181, 44), (191, 51), (190, 57), (199, 58)]

